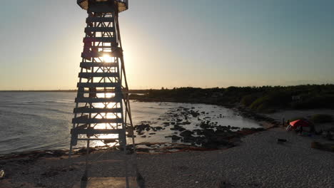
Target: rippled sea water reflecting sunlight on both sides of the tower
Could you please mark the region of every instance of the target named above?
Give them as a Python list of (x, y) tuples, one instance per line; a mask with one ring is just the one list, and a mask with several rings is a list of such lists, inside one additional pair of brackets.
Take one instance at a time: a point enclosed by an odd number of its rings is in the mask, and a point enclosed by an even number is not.
[[(51, 92), (0, 92), (0, 155), (31, 150), (69, 149), (72, 127), (74, 98), (76, 93)], [(198, 117), (189, 118), (187, 130), (198, 127), (198, 123), (209, 118), (218, 125), (234, 127), (260, 127), (257, 122), (243, 118), (227, 108), (216, 105), (188, 103), (141, 103), (131, 101), (133, 124), (149, 122), (152, 127), (164, 127), (171, 122), (182, 108), (204, 112)], [(151, 133), (151, 134), (150, 134)], [(154, 133), (154, 135), (153, 135)], [(145, 131), (137, 135), (140, 142), (172, 142), (168, 135), (178, 132), (165, 127), (165, 130)], [(143, 137), (146, 136), (146, 137)], [(100, 142), (93, 142), (101, 145)], [(84, 146), (79, 142), (78, 147)]]

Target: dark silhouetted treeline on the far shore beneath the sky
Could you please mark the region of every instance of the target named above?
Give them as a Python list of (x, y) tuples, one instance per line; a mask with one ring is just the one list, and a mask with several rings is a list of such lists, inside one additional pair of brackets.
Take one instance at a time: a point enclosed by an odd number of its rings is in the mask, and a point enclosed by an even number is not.
[(131, 95), (144, 101), (174, 101), (216, 105), (244, 105), (253, 110), (334, 109), (334, 85), (296, 85), (228, 88), (173, 88), (147, 90), (145, 95)]

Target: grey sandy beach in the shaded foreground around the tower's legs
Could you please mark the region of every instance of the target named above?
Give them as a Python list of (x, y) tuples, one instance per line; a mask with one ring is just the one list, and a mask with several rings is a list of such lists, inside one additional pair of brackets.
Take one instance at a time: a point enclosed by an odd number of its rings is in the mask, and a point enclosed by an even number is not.
[[(278, 144), (277, 138), (288, 142)], [(310, 148), (313, 140), (323, 141), (272, 128), (247, 135), (228, 150), (140, 153), (138, 165), (146, 187), (333, 187), (334, 153)], [(94, 176), (122, 172), (119, 152), (104, 156), (93, 164)], [(73, 187), (83, 160), (74, 157), (71, 167), (65, 156), (1, 160), (6, 178), (0, 187)]]

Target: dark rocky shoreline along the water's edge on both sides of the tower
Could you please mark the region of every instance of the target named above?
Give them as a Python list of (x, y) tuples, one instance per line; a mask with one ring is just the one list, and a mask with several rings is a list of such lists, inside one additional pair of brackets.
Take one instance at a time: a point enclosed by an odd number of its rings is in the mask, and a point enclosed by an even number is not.
[[(156, 132), (161, 130), (170, 129), (173, 130), (173, 135), (166, 135), (166, 138), (171, 138), (171, 143), (166, 142), (142, 142), (136, 144), (137, 152), (147, 153), (165, 153), (165, 152), (179, 152), (185, 150), (218, 150), (227, 149), (239, 145), (241, 137), (245, 135), (251, 135), (255, 132), (264, 131), (268, 128), (275, 127), (279, 124), (270, 117), (258, 115), (246, 108), (237, 107), (231, 108), (238, 115), (255, 120), (263, 125), (263, 128), (240, 128), (232, 127), (230, 125), (217, 125), (217, 122), (211, 122), (210, 117), (204, 117), (200, 119), (199, 115), (206, 115), (207, 112), (195, 110), (194, 108), (179, 107), (173, 112), (168, 113), (166, 122), (163, 122), (161, 126), (153, 126), (152, 122), (142, 122), (139, 125), (135, 125), (134, 129), (137, 136), (146, 137), (143, 132), (150, 132), (148, 135), (155, 135)], [(223, 115), (220, 115), (223, 117)], [(198, 118), (200, 123), (196, 125), (196, 129), (187, 130), (186, 125), (191, 122), (188, 120), (191, 117)], [(135, 135), (135, 137), (136, 137)], [(150, 137), (150, 136), (148, 136)], [(116, 148), (120, 150), (121, 148)], [(129, 146), (128, 149), (132, 149)], [(108, 150), (106, 147), (91, 147), (91, 152), (96, 150)], [(85, 155), (86, 148), (76, 148), (73, 155)], [(39, 159), (40, 157), (64, 157), (69, 155), (69, 150), (41, 150), (41, 151), (29, 151), (29, 152), (16, 152), (7, 155), (0, 155), (0, 160), (9, 160), (14, 158), (24, 158), (22, 163), (31, 162)], [(1, 163), (0, 163), (1, 164)]]

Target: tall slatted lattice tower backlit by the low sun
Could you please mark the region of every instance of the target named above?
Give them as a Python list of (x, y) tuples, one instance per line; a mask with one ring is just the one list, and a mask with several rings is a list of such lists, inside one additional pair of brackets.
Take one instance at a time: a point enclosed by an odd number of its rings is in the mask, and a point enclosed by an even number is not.
[[(82, 181), (88, 182), (88, 154), (91, 142), (97, 140), (111, 147), (119, 145), (127, 162), (128, 132), (128, 137), (132, 137), (133, 155), (136, 157), (118, 26), (118, 13), (128, 9), (128, 0), (77, 0), (77, 3), (87, 11), (88, 18), (86, 36), (83, 38), (76, 108), (72, 120), (70, 157), (73, 146), (76, 146), (78, 141), (86, 142), (86, 170)], [(128, 169), (125, 168), (126, 187), (129, 187)], [(135, 168), (138, 175), (138, 169)], [(138, 176), (141, 177), (140, 174)]]

